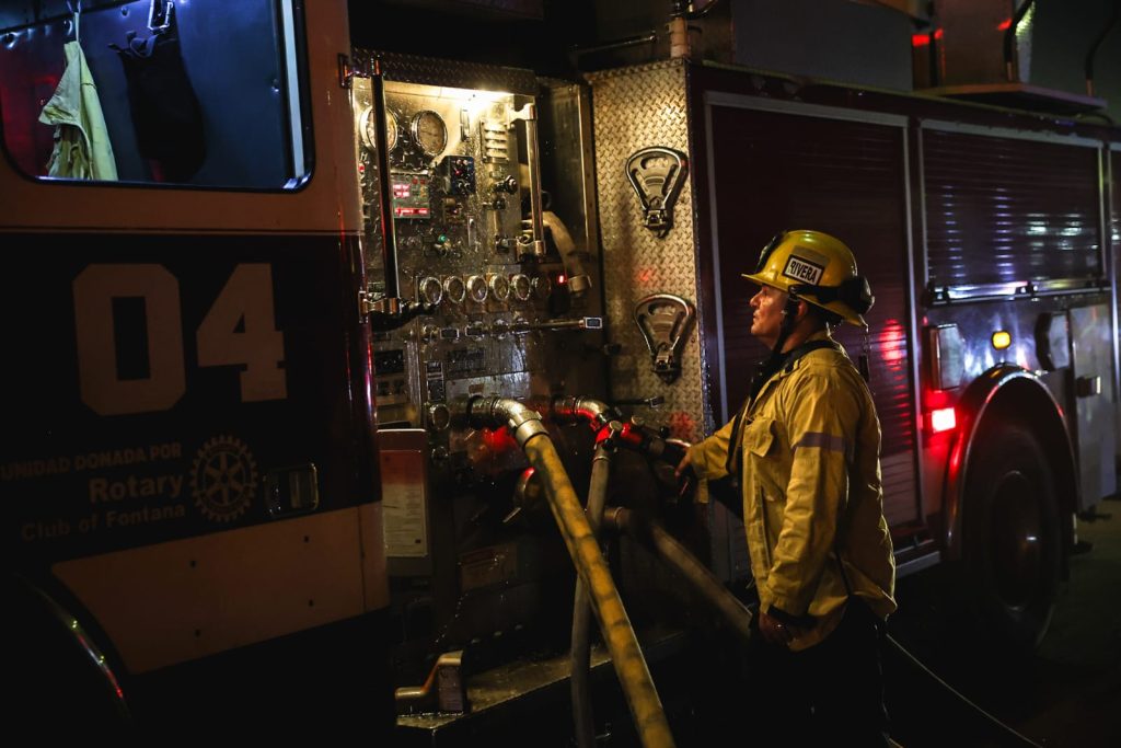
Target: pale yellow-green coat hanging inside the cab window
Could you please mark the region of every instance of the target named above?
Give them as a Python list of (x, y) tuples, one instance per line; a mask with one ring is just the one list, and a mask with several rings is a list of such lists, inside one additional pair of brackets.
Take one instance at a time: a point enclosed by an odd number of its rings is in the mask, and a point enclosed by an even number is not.
[(55, 147), (47, 161), (49, 176), (71, 179), (115, 179), (117, 161), (105, 117), (82, 46), (67, 41), (66, 70), (39, 121), (55, 126)]

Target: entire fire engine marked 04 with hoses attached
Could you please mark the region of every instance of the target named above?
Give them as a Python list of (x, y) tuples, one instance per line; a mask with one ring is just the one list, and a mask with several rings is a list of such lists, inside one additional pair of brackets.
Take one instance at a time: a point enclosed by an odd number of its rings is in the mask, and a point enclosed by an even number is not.
[(1117, 128), (715, 64), (685, 22), (560, 80), (354, 45), (341, 2), (3, 4), (20, 710), (547, 741), (571, 682), (667, 745), (697, 611), (751, 617), (735, 511), (671, 464), (766, 354), (739, 274), (781, 229), (876, 294), (839, 340), (899, 574), (1040, 640), (1117, 490)]

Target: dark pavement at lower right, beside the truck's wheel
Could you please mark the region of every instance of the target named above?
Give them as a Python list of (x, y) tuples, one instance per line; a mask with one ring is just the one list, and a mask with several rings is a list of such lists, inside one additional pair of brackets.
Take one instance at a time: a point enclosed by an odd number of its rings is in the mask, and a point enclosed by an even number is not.
[(899, 581), (892, 637), (1010, 728), (889, 650), (892, 735), (905, 748), (1121, 746), (1121, 500), (1096, 511), (1095, 520), (1080, 520), (1078, 538), (1092, 547), (1071, 558), (1050, 628), (1031, 656), (1003, 656), (949, 634), (939, 570)]

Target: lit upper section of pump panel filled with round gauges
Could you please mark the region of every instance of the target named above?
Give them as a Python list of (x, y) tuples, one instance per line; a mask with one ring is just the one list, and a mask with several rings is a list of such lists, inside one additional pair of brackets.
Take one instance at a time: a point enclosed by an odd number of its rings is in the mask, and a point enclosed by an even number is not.
[[(379, 138), (369, 81), (355, 80), (353, 95), (363, 204), (377, 215)], [(377, 372), (382, 426), (427, 428), (434, 444), (451, 445), (464, 436), (425, 416), (446, 406), (450, 393), (529, 397), (529, 389), (548, 389), (532, 382), (556, 358), (556, 342), (534, 331), (553, 316), (563, 269), (529, 250), (527, 166), (519, 163), (525, 126), (516, 127), (529, 103), (526, 95), (385, 82), (397, 287), (436, 312), (374, 342), (406, 362), (404, 373)], [(383, 273), (377, 220), (367, 221), (365, 237), (377, 283)], [(532, 386), (511, 389), (515, 381)]]

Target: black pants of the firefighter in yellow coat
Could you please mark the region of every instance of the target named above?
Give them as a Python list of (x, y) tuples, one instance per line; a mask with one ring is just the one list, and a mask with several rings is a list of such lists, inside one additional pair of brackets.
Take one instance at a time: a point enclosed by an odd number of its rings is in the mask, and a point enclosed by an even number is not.
[(882, 621), (858, 598), (809, 649), (793, 653), (757, 636), (751, 722), (784, 746), (887, 746), (882, 637)]

